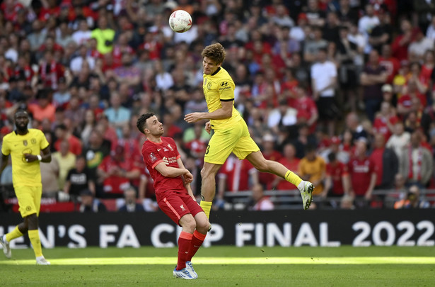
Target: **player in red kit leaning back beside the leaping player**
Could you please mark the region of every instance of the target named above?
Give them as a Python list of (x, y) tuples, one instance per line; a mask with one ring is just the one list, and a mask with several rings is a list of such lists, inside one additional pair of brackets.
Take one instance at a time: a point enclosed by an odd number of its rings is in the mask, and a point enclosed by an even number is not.
[(173, 275), (195, 279), (198, 275), (191, 260), (204, 242), (209, 220), (190, 188), (193, 176), (182, 164), (175, 141), (162, 137), (163, 124), (153, 113), (141, 115), (137, 119), (137, 128), (146, 135), (142, 156), (154, 180), (158, 206), (182, 227), (178, 237), (178, 263)]

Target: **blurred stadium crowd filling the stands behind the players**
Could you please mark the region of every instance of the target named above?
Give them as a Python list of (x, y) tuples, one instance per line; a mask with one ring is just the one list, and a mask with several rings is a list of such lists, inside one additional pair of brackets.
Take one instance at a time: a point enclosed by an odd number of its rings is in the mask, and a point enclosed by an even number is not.
[[(125, 194), (123, 210), (142, 210), (135, 191), (156, 210), (136, 128), (148, 111), (177, 142), (199, 195), (209, 135), (183, 118), (207, 111), (200, 54), (219, 42), (252, 137), (267, 159), (315, 184), (315, 202), (379, 207), (381, 190), (410, 194), (395, 208), (431, 206), (410, 200), (435, 188), (432, 1), (4, 0), (0, 9), (0, 136), (17, 108), (32, 115), (52, 147), (41, 163), (47, 198), (90, 198), (80, 210), (115, 198), (118, 209)], [(168, 26), (178, 9), (192, 15), (185, 33)], [(254, 189), (252, 208), (270, 209), (263, 190), (294, 189), (235, 157), (218, 177), (216, 208), (226, 193)]]

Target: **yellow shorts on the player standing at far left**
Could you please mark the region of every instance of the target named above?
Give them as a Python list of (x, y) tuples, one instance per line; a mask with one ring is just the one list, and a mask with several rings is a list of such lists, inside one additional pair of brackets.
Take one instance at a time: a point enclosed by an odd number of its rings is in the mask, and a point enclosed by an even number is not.
[(40, 214), (42, 186), (18, 186), (15, 189), (15, 195), (18, 199), (18, 206), (21, 217), (36, 213)]

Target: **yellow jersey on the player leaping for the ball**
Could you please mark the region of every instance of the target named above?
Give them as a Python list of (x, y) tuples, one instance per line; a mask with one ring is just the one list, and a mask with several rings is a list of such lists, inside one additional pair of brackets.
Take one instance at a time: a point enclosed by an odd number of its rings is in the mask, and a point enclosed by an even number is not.
[[(209, 113), (222, 108), (221, 101), (234, 101), (234, 84), (231, 76), (226, 72), (223, 67), (219, 67), (214, 74), (204, 74), (204, 81), (202, 89), (204, 91), (205, 101)], [(234, 103), (233, 103), (234, 105)], [(231, 118), (224, 118), (222, 120), (210, 120), (211, 128), (220, 129), (231, 126), (242, 120), (240, 113), (233, 107), (233, 115)]]

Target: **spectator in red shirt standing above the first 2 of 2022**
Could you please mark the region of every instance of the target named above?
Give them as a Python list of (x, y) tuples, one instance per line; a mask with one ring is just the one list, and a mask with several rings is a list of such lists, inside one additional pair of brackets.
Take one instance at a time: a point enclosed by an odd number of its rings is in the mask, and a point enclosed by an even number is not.
[[(360, 208), (366, 206), (371, 200), (371, 193), (376, 185), (376, 166), (367, 157), (367, 145), (365, 140), (356, 142), (355, 157), (349, 162), (350, 195), (359, 198), (356, 205)], [(363, 201), (364, 199), (364, 201)]]

